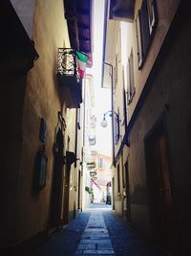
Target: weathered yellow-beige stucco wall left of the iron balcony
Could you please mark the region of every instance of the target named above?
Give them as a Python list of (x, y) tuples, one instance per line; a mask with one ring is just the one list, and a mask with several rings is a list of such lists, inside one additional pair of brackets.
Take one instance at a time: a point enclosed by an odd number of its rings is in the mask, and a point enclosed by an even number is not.
[[(36, 1), (32, 39), (39, 58), (29, 72), (26, 87), (15, 242), (22, 242), (46, 229), (49, 218), (53, 172), (53, 136), (57, 123), (57, 112), (62, 109), (55, 80), (57, 48), (63, 47), (64, 43), (65, 46), (70, 46), (62, 0)], [(63, 114), (66, 118), (65, 109), (63, 109)], [(74, 114), (72, 113), (72, 115)], [(46, 145), (48, 166), (46, 187), (38, 195), (33, 195), (34, 159), (40, 146), (38, 138), (40, 117), (44, 117), (48, 124)], [(68, 130), (70, 130), (69, 126)]]

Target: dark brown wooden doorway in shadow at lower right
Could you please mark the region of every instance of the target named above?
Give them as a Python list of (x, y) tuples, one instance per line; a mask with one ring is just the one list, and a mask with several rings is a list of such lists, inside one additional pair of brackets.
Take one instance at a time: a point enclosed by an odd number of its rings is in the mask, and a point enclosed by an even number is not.
[(176, 250), (177, 228), (163, 123), (145, 139), (152, 238), (167, 251)]

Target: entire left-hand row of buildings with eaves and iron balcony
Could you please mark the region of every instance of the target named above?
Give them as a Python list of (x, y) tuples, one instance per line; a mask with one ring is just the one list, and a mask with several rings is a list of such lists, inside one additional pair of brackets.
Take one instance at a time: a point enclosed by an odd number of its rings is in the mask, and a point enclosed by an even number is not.
[[(88, 55), (91, 66), (91, 15), (92, 1), (85, 6), (67, 0), (1, 3), (4, 253), (23, 253), (81, 208), (77, 116), (83, 80), (76, 71), (75, 50)], [(72, 73), (67, 73), (69, 62)]]

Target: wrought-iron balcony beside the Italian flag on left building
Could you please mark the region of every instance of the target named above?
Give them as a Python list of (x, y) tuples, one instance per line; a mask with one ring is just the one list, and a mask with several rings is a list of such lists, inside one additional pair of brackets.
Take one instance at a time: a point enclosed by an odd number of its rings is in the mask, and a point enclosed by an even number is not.
[(59, 48), (57, 59), (57, 81), (62, 104), (77, 108), (82, 103), (82, 80), (76, 71), (75, 50)]

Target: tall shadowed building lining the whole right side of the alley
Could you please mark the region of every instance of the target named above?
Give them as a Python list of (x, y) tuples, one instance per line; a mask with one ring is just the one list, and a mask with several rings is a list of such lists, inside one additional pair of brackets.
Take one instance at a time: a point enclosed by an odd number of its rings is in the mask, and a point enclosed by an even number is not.
[(110, 2), (106, 29), (119, 124), (113, 125), (114, 208), (162, 250), (188, 255), (188, 3), (125, 2)]

